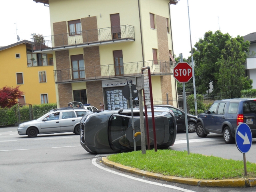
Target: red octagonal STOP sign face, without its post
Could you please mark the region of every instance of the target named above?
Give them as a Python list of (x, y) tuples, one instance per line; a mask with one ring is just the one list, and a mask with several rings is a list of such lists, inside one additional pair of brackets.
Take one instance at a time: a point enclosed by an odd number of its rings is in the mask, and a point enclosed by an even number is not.
[(178, 63), (173, 68), (174, 78), (180, 83), (186, 83), (192, 78), (192, 67), (187, 63)]

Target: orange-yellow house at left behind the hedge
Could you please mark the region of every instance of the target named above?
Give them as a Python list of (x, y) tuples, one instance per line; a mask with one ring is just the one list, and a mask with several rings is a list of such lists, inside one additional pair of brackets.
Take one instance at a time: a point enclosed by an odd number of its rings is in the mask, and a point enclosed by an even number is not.
[(33, 53), (28, 40), (0, 48), (0, 87), (20, 86), (23, 104), (56, 103), (52, 54)]

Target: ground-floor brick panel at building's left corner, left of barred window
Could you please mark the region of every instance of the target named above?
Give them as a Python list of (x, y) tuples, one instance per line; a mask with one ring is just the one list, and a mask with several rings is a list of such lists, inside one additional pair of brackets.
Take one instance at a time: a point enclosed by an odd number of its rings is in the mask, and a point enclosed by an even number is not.
[(58, 92), (59, 92), (60, 107), (68, 107), (68, 102), (73, 101), (71, 83), (58, 84)]

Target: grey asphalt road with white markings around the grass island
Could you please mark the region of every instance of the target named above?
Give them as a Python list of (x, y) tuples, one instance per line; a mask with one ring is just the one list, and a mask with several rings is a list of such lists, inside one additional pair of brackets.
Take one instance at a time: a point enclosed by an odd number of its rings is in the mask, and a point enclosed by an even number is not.
[[(211, 136), (211, 135), (210, 135)], [(189, 134), (190, 153), (242, 160), (236, 145), (222, 137)], [(246, 159), (256, 162), (256, 141)], [(173, 150), (187, 150), (186, 134), (178, 133)], [(108, 168), (101, 155), (90, 154), (73, 133), (19, 136), (17, 127), (0, 128), (0, 192), (252, 192), (256, 188), (201, 188), (143, 178)]]

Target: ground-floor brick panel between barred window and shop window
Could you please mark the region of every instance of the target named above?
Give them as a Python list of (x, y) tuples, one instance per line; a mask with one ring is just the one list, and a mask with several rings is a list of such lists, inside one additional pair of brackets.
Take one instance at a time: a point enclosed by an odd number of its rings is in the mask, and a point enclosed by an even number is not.
[(100, 109), (103, 102), (103, 88), (101, 81), (86, 82), (87, 102)]

